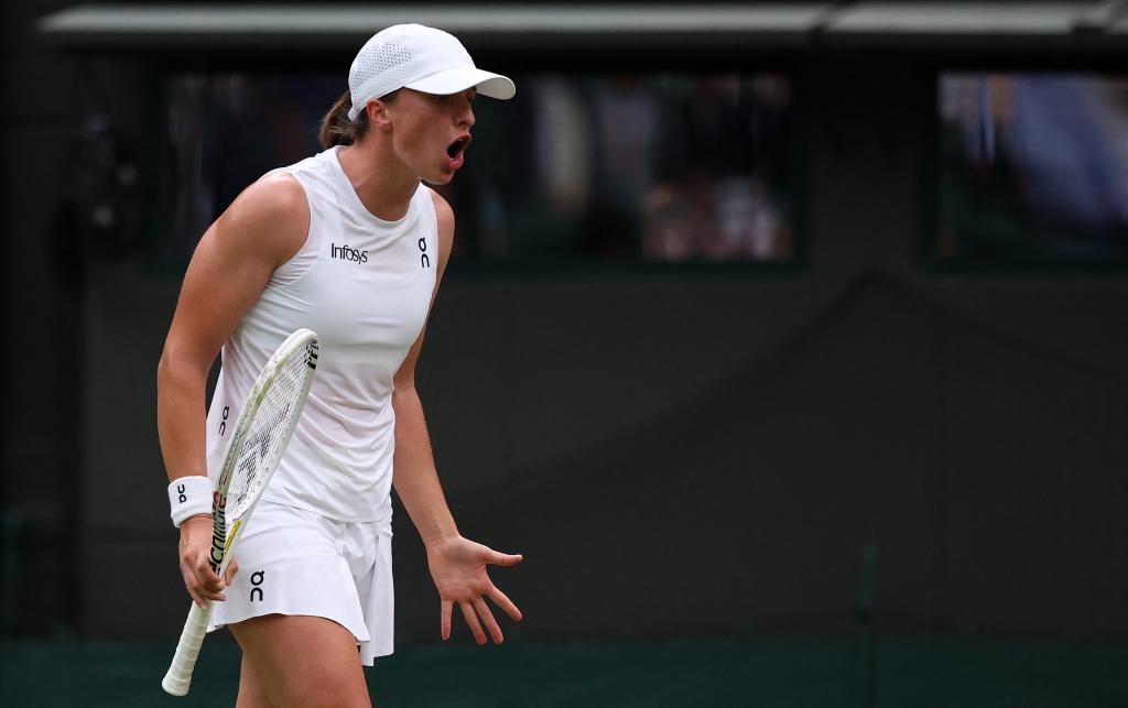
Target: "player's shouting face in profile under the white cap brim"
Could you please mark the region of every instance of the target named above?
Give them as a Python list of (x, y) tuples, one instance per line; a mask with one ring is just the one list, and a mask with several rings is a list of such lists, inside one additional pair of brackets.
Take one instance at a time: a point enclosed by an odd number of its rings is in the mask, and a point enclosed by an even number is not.
[(450, 96), (402, 89), (388, 106), (396, 154), (424, 182), (443, 185), (462, 166), (474, 126), (475, 89)]

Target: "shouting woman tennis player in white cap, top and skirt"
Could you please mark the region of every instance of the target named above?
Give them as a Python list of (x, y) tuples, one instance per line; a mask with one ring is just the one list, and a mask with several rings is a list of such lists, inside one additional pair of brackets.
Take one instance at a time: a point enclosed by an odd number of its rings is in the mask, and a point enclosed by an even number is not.
[[(243, 648), (239, 708), (370, 705), (361, 664), (393, 651), (393, 485), (426, 547), (442, 638), (457, 605), (478, 644), (487, 631), (501, 643), (487, 598), (521, 619), (485, 569), (521, 556), (459, 534), (414, 386), (455, 230), (450, 206), (422, 183), (446, 184), (461, 167), (475, 96), (515, 89), (420, 25), (364, 44), (349, 88), (323, 122), (326, 150), (261, 178), (204, 233), (159, 366), (180, 572), (195, 602), (222, 601), (211, 628), (229, 627)], [(220, 578), (208, 563), (208, 470), (255, 374), (300, 327), (320, 337), (317, 375), (236, 549), (241, 569)]]

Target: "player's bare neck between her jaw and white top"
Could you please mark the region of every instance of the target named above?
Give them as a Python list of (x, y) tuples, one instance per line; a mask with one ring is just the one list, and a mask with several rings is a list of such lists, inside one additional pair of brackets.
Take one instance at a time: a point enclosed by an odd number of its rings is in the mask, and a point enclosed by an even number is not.
[(396, 158), (390, 144), (367, 140), (346, 145), (337, 152), (337, 159), (361, 204), (372, 215), (399, 221), (407, 214), (420, 180)]

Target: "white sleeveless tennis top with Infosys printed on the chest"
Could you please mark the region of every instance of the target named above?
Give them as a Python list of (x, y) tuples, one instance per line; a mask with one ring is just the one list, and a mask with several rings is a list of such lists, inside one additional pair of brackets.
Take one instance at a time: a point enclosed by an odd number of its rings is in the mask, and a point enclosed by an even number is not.
[(422, 184), (399, 221), (372, 215), (341, 169), (338, 150), (276, 170), (305, 188), (309, 236), (223, 344), (208, 411), (208, 469), (218, 474), (229, 428), (263, 364), (307, 327), (320, 337), (317, 373), (263, 498), (340, 521), (379, 521), (391, 513), (391, 378), (426, 320), (438, 220)]

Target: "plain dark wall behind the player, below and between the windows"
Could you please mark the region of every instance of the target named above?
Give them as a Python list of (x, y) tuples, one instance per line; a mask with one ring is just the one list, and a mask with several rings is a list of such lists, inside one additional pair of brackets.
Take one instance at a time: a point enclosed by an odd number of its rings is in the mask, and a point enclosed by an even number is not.
[[(836, 631), (874, 543), (889, 629), (1123, 636), (1128, 283), (918, 268), (925, 57), (800, 64), (803, 272), (449, 274), (420, 388), (461, 530), (527, 555), (495, 573), (527, 614), (514, 634)], [(131, 259), (87, 262), (73, 293), (50, 275), (74, 121), (21, 109), (5, 107), (6, 169), (35, 178), (6, 191), (6, 233), (35, 250), (6, 259), (5, 312), (41, 351), (5, 402), (5, 505), (43, 530), (29, 558), (62, 559), (42, 573), (79, 572), (65, 591), (28, 574), (23, 607), (173, 637), (187, 600), (153, 410), (178, 282)], [(43, 425), (76, 406), (69, 435)], [(406, 515), (396, 530), (398, 628), (431, 640), (422, 548)]]

